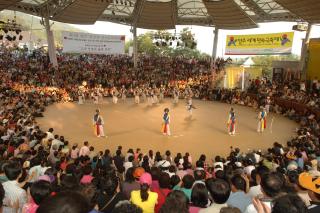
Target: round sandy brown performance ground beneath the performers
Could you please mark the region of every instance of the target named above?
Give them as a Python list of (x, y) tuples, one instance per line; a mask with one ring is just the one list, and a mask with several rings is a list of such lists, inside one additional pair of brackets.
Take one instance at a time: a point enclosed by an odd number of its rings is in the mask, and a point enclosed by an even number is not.
[[(115, 151), (122, 145), (128, 148), (141, 148), (172, 153), (190, 152), (194, 158), (202, 153), (212, 158), (217, 154), (229, 153), (230, 146), (241, 150), (265, 149), (273, 142), (286, 143), (294, 135), (297, 124), (279, 115), (268, 116), (268, 128), (263, 134), (256, 132), (257, 112), (252, 108), (233, 106), (237, 118), (237, 134), (227, 134), (226, 122), (230, 105), (218, 102), (194, 101), (197, 107), (189, 117), (184, 101), (173, 106), (171, 100), (157, 106), (136, 105), (133, 99), (114, 105), (111, 99), (103, 104), (91, 102), (84, 105), (76, 103), (59, 103), (47, 108), (45, 117), (38, 119), (40, 126), (47, 130), (53, 127), (55, 133), (64, 135), (70, 144), (88, 140), (96, 150)], [(170, 108), (172, 136), (163, 136), (160, 132), (162, 112)], [(93, 133), (92, 116), (95, 109), (101, 110), (105, 120), (104, 130), (108, 138), (97, 138)], [(270, 128), (273, 119), (272, 129)]]

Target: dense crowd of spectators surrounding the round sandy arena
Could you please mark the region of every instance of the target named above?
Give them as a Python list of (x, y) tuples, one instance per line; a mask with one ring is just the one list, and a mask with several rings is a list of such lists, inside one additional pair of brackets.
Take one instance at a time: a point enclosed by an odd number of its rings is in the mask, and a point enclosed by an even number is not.
[[(254, 79), (241, 92), (211, 88), (210, 64), (196, 60), (144, 57), (138, 70), (127, 56), (62, 55), (58, 69), (47, 60), (1, 52), (2, 212), (320, 212), (319, 117), (276, 102), (281, 98), (319, 108), (317, 81), (307, 91), (303, 83)], [(300, 128), (287, 143), (248, 153), (232, 148), (227, 156), (195, 158), (190, 153), (144, 153), (122, 146), (95, 150), (88, 141), (69, 143), (36, 122), (49, 104), (75, 101), (72, 93), (83, 81), (89, 88), (188, 84), (203, 100), (268, 105), (270, 111), (299, 122)]]

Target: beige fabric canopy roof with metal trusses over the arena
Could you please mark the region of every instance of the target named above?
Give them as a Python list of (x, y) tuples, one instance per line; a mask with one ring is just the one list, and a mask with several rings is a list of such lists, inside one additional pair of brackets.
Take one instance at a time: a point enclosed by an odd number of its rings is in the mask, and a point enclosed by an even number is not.
[(257, 23), (320, 23), (319, 0), (0, 0), (0, 10), (21, 11), (71, 24), (109, 21), (146, 29), (175, 25), (254, 28)]

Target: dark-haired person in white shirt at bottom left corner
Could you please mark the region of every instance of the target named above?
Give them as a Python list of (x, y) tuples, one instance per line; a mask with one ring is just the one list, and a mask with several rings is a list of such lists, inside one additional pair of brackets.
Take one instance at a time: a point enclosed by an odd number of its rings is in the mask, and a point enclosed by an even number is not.
[[(21, 177), (22, 167), (18, 162), (11, 161), (4, 166), (4, 172), (8, 181), (3, 183), (5, 191), (3, 213), (20, 213), (22, 207), (27, 203), (27, 193), (19, 186), (19, 178)], [(12, 207), (14, 203), (18, 203), (19, 209)]]

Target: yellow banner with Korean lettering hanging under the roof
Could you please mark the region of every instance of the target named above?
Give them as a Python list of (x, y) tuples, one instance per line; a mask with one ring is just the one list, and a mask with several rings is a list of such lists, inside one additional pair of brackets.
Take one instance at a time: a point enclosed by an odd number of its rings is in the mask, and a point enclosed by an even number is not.
[(227, 35), (225, 55), (290, 54), (294, 32)]

